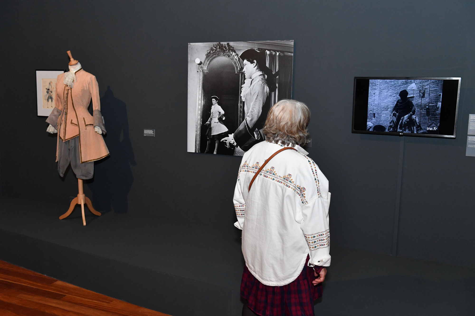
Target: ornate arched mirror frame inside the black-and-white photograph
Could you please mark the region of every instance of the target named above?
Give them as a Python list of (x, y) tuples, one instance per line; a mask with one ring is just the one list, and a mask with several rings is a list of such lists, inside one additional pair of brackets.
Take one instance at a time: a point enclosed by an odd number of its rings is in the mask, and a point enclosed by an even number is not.
[(239, 74), (239, 91), (238, 91), (238, 117), (237, 117), (237, 126), (242, 123), (242, 112), (243, 112), (243, 104), (244, 102), (241, 99), (241, 85), (243, 84), (243, 72), (242, 67), (239, 62), (239, 56), (234, 50), (234, 47), (227, 44), (221, 44), (220, 42), (214, 44), (207, 52), (205, 56), (205, 60), (202, 65), (198, 65), (199, 71), (199, 82), (198, 82), (198, 95), (197, 95), (197, 102), (196, 102), (196, 127), (195, 127), (195, 152), (200, 152), (199, 148), (201, 145), (201, 120), (202, 120), (202, 108), (203, 108), (203, 73), (208, 71), (209, 63), (215, 59), (216, 57), (226, 57), (228, 58), (231, 63), (234, 65), (234, 69), (236, 70), (236, 74)]

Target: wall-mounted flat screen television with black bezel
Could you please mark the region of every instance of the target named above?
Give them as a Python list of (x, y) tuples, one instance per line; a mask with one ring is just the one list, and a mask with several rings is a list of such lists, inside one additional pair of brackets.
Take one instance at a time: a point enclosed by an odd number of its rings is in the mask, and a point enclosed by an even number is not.
[(355, 77), (352, 133), (455, 138), (460, 81)]

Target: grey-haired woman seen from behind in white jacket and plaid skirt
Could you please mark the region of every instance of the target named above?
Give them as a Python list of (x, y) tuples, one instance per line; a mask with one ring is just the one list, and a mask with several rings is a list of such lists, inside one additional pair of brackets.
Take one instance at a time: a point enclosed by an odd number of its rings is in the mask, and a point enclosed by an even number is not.
[[(234, 191), (246, 265), (243, 316), (310, 316), (330, 265), (328, 180), (305, 143), (310, 111), (281, 100), (269, 111), (266, 141), (243, 156)], [(288, 149), (288, 150), (287, 150)]]

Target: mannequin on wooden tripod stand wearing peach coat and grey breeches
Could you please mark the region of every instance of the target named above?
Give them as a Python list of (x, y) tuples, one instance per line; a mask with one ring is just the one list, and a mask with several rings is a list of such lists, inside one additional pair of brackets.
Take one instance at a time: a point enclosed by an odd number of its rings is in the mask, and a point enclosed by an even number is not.
[[(58, 133), (56, 161), (58, 172), (64, 176), (71, 168), (77, 177), (78, 195), (71, 202), (68, 211), (59, 219), (69, 216), (76, 204), (81, 204), (85, 226), (84, 204), (92, 214), (100, 216), (91, 200), (84, 194), (83, 180), (94, 175), (94, 161), (109, 155), (101, 135), (105, 134), (104, 118), (100, 112), (99, 87), (95, 76), (85, 72), (81, 64), (67, 51), (70, 58), (69, 72), (58, 75), (56, 83), (55, 108), (47, 118), (47, 132)], [(87, 108), (93, 102), (93, 115)]]

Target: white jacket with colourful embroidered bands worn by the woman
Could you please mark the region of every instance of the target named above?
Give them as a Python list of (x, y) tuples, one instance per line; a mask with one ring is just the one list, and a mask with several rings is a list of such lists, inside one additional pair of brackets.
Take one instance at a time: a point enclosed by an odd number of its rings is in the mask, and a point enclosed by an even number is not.
[(328, 180), (300, 146), (272, 158), (249, 183), (259, 167), (284, 146), (260, 142), (243, 156), (234, 207), (242, 229), (242, 252), (249, 271), (263, 284), (282, 286), (304, 268), (330, 265)]

